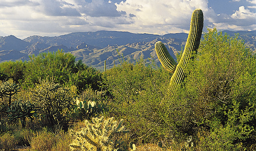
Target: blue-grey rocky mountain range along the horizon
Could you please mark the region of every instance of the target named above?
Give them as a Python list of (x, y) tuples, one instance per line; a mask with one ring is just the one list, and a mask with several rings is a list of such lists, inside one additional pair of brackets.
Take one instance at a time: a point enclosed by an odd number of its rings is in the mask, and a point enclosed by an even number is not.
[[(230, 36), (239, 34), (246, 46), (251, 51), (256, 51), (256, 31), (222, 31)], [(136, 61), (143, 58), (152, 58), (156, 64), (160, 64), (154, 51), (154, 44), (162, 41), (170, 55), (176, 55), (185, 47), (188, 34), (135, 34), (119, 31), (76, 32), (61, 36), (30, 36), (19, 39), (13, 35), (0, 36), (0, 62), (29, 60), (29, 55), (38, 55), (42, 52), (53, 52), (63, 49), (72, 53), (76, 60), (83, 63), (104, 68), (106, 60), (107, 68), (119, 63), (119, 59), (130, 58)], [(150, 63), (148, 59), (146, 63)]]

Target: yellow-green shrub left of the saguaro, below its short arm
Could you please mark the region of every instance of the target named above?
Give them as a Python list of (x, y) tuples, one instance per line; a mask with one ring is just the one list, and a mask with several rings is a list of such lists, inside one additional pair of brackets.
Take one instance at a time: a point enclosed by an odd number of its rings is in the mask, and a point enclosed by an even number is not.
[(164, 88), (168, 85), (170, 73), (140, 60), (135, 64), (124, 61), (107, 70), (104, 76), (113, 98), (108, 104), (108, 113), (122, 117), (125, 126), (135, 132), (134, 139), (150, 141), (161, 136), (161, 133), (155, 131), (159, 127), (156, 117), (163, 110), (159, 104), (165, 94)]

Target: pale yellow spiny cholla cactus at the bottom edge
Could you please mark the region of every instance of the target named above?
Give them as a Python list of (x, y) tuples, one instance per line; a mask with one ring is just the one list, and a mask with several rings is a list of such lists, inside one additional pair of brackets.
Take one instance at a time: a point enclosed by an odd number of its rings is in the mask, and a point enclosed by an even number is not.
[(117, 122), (113, 117), (104, 119), (104, 117), (92, 118), (92, 122), (85, 121), (86, 126), (80, 131), (71, 130), (75, 139), (70, 144), (71, 150), (89, 150), (89, 151), (115, 151), (114, 140), (112, 136), (115, 133), (125, 132), (122, 121)]

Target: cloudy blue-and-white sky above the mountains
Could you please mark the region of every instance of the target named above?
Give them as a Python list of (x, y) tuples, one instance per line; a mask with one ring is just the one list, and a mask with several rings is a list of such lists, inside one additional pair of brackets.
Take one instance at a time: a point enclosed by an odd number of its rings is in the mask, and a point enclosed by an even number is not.
[(206, 27), (256, 30), (256, 0), (0, 0), (0, 36), (72, 32), (188, 33), (193, 10)]

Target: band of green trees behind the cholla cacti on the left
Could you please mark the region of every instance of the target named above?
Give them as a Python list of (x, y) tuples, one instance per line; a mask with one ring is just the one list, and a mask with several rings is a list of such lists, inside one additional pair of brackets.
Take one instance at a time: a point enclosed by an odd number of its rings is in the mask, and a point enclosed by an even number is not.
[(31, 56), (29, 61), (9, 61), (0, 63), (0, 80), (13, 79), (22, 88), (32, 88), (39, 82), (38, 78), (55, 78), (60, 85), (76, 86), (78, 93), (92, 88), (100, 90), (102, 73), (89, 67), (70, 53), (62, 50), (40, 53)]

